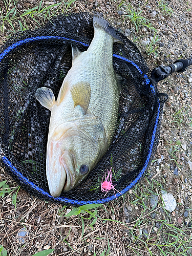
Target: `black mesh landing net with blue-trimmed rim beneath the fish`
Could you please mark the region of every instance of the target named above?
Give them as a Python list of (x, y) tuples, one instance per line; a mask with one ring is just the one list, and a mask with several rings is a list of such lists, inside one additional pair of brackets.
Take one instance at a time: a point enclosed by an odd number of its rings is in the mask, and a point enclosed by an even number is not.
[(50, 111), (35, 99), (35, 92), (45, 86), (57, 97), (72, 65), (71, 44), (85, 51), (93, 39), (92, 19), (88, 13), (59, 15), (42, 28), (15, 34), (1, 48), (1, 166), (39, 199), (73, 205), (113, 200), (113, 189), (106, 196), (101, 192), (107, 169), (113, 167), (113, 185), (124, 194), (143, 177), (158, 145), (167, 96), (159, 94), (156, 83), (147, 77), (137, 47), (116, 30), (125, 44), (114, 44), (113, 63), (124, 82), (113, 142), (78, 187), (59, 198), (49, 194), (46, 147)]

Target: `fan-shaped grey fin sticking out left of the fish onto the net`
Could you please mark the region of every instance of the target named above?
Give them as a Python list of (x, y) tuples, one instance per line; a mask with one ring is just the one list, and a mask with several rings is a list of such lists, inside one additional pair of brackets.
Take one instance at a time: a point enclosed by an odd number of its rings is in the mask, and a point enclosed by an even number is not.
[(38, 88), (35, 93), (36, 99), (42, 106), (45, 106), (48, 110), (51, 110), (55, 102), (55, 96), (53, 91), (47, 87)]

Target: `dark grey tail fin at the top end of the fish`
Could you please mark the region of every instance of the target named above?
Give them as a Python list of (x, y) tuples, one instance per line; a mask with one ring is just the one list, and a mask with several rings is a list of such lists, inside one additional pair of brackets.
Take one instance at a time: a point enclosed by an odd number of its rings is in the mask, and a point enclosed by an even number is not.
[(120, 44), (123, 44), (121, 41), (120, 36), (116, 33), (115, 29), (110, 26), (110, 24), (99, 14), (95, 14), (93, 17), (93, 27), (94, 29), (102, 29), (106, 33), (113, 36), (114, 42), (119, 42)]

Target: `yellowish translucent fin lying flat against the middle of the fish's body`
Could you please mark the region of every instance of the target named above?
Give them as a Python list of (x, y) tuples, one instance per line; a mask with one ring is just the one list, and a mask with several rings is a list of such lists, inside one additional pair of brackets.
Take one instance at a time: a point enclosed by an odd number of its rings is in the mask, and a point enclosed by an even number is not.
[(74, 108), (80, 105), (86, 113), (91, 98), (91, 86), (88, 82), (78, 82), (70, 89), (74, 102)]

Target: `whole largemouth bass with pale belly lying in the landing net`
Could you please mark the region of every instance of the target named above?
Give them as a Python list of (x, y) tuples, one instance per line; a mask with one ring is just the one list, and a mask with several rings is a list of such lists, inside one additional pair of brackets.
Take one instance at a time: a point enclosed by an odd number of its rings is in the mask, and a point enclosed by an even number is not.
[(72, 47), (72, 68), (57, 101), (51, 89), (36, 91), (36, 99), (51, 111), (46, 174), (53, 197), (88, 175), (108, 149), (116, 127), (119, 88), (112, 54), (113, 43), (120, 39), (99, 15), (93, 26), (88, 50)]

